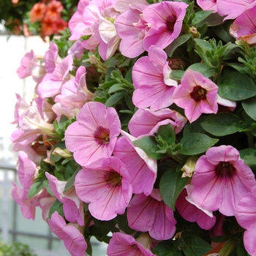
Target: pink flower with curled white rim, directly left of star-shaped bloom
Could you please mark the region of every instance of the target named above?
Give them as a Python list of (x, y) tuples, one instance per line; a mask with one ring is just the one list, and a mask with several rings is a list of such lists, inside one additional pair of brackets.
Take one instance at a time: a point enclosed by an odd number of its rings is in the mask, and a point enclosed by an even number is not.
[(170, 79), (172, 71), (168, 66), (164, 50), (152, 45), (148, 56), (135, 62), (132, 68), (132, 80), (135, 91), (132, 102), (138, 108), (159, 110), (173, 104), (173, 91), (178, 86), (176, 80)]

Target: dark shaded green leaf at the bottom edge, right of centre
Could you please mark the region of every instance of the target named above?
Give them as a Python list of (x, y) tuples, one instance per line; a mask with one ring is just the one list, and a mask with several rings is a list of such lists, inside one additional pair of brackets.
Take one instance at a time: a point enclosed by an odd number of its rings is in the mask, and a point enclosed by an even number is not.
[(186, 256), (202, 256), (211, 250), (211, 245), (198, 236), (186, 236), (183, 252)]

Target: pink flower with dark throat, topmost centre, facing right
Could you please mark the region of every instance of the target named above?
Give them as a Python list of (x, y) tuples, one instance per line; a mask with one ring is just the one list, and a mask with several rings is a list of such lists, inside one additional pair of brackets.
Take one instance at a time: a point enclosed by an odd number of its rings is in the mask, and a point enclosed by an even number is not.
[(176, 1), (162, 1), (151, 4), (143, 10), (143, 18), (150, 24), (150, 29), (143, 39), (143, 48), (151, 45), (161, 49), (170, 45), (181, 34), (187, 4)]

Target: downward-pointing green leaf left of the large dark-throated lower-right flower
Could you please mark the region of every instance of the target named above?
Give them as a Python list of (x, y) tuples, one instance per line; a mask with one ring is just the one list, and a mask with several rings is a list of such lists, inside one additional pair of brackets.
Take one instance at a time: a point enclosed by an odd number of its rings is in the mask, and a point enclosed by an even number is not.
[(187, 184), (187, 177), (181, 178), (181, 171), (176, 171), (176, 167), (170, 168), (165, 172), (159, 182), (159, 189), (162, 200), (175, 211), (175, 203), (178, 195)]

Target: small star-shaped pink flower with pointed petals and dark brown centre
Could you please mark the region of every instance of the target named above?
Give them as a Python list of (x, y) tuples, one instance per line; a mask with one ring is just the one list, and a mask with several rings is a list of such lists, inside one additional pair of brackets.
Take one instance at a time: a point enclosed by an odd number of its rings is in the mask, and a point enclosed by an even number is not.
[(217, 113), (218, 86), (201, 73), (188, 69), (181, 78), (181, 84), (173, 92), (173, 102), (184, 108), (192, 123), (202, 113)]

